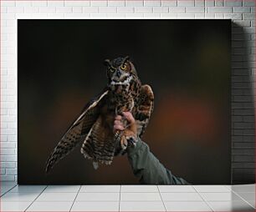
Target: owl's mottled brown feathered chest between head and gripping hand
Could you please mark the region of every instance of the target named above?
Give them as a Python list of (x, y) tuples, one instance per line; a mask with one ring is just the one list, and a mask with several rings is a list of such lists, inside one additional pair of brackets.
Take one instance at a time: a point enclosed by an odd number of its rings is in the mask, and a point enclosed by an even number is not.
[(132, 80), (126, 84), (111, 85), (108, 108), (114, 110), (115, 114), (131, 111), (137, 104), (140, 90), (141, 82), (139, 80)]

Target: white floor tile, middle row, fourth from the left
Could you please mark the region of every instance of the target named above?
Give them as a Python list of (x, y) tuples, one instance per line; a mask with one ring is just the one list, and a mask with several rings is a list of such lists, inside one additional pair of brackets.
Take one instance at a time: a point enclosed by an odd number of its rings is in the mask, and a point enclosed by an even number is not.
[(146, 192), (135, 192), (135, 193), (121, 193), (121, 201), (161, 201), (159, 193), (146, 193)]

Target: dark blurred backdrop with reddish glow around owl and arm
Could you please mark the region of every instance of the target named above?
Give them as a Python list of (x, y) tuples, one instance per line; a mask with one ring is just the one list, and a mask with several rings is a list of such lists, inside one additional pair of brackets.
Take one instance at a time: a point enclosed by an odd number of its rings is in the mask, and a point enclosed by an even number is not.
[(44, 174), (104, 59), (125, 55), (155, 93), (151, 151), (192, 184), (230, 184), (230, 34), (230, 20), (18, 20), (18, 184), (138, 184), (126, 155), (95, 170), (79, 147)]

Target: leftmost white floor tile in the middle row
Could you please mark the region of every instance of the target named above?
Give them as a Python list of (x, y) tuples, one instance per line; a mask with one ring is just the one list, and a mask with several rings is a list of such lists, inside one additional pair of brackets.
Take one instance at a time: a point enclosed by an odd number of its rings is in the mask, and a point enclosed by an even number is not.
[(4, 194), (1, 201), (4, 202), (29, 202), (38, 197), (39, 193), (10, 193)]

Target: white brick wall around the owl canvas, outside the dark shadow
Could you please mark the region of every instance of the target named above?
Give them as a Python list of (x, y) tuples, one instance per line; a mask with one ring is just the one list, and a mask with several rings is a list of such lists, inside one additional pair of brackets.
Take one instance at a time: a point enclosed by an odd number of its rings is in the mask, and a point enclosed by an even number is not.
[(243, 33), (241, 28), (233, 27), (233, 174), (243, 174), (244, 170), (248, 174), (252, 173), (254, 161), (249, 157), (252, 153), (244, 154), (244, 149), (254, 148), (253, 106), (248, 94), (253, 79), (253, 75), (248, 76), (248, 70), (254, 73), (255, 68), (254, 0), (2, 0), (0, 3), (1, 180), (17, 179), (18, 18), (233, 19), (233, 23), (244, 28)]

